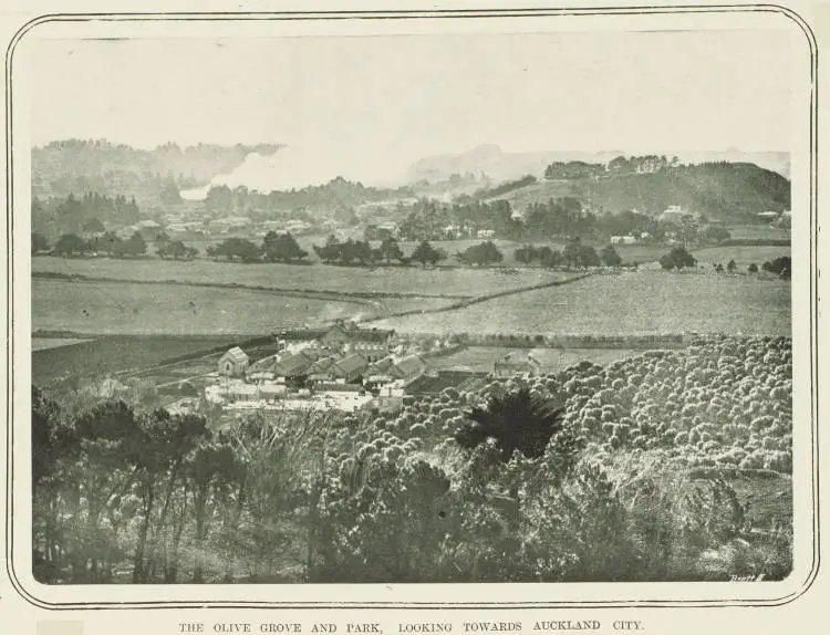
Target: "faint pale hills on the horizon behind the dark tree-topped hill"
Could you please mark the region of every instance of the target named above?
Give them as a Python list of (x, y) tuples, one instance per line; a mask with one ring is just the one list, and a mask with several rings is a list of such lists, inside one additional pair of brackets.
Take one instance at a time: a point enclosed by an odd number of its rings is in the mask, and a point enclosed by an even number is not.
[[(543, 150), (537, 153), (510, 153), (495, 144), (485, 144), (466, 153), (425, 157), (413, 164), (407, 171), (409, 183), (427, 180), (444, 181), (453, 175), (485, 174), (495, 181), (508, 181), (525, 175), (541, 176), (548, 164), (553, 162), (575, 162), (606, 164), (614, 157), (624, 154), (621, 150), (582, 152), (582, 150)], [(744, 153), (740, 150), (724, 152), (660, 152), (667, 157), (676, 156), (684, 164), (699, 163), (753, 163), (765, 169), (777, 171), (785, 178), (790, 176), (788, 153)]]

